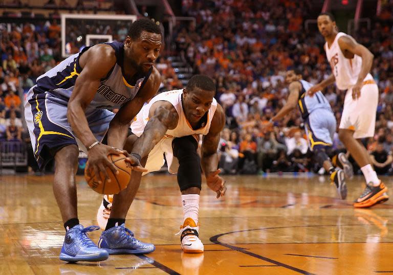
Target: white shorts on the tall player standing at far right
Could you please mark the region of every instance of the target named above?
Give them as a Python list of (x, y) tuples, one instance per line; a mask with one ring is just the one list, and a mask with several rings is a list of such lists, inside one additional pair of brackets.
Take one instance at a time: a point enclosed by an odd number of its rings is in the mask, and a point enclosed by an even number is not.
[(374, 136), (378, 97), (378, 86), (374, 80), (363, 82), (357, 100), (352, 99), (352, 88), (348, 89), (339, 128), (353, 130), (355, 139)]

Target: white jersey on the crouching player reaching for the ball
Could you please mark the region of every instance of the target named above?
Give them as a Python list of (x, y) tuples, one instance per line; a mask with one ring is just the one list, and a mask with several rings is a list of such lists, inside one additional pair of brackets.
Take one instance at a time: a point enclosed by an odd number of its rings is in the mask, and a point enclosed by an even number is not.
[(168, 101), (173, 105), (174, 108), (176, 108), (176, 111), (179, 115), (179, 122), (176, 128), (166, 131), (166, 137), (182, 137), (193, 134), (206, 135), (209, 132), (211, 120), (213, 119), (215, 109), (217, 108), (217, 101), (213, 98), (213, 102), (211, 103), (210, 109), (207, 112), (206, 122), (201, 125), (201, 128), (194, 130), (192, 129), (183, 111), (182, 94), (183, 89), (171, 90), (152, 98), (148, 104), (142, 107), (137, 116), (134, 118), (134, 122), (131, 124), (131, 130), (133, 133), (138, 137), (143, 133), (143, 130), (149, 121), (149, 110), (152, 104), (157, 101)]

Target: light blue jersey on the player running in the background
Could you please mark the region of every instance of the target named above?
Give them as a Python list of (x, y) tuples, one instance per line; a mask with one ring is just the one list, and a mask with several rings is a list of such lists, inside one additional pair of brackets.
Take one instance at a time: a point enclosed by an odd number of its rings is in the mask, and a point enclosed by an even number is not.
[(317, 91), (312, 97), (307, 94), (307, 90), (313, 85), (307, 81), (300, 80), (301, 93), (299, 94), (299, 109), (301, 112), (301, 117), (306, 119), (310, 113), (316, 109), (328, 109), (332, 111), (329, 101), (325, 98), (322, 92)]

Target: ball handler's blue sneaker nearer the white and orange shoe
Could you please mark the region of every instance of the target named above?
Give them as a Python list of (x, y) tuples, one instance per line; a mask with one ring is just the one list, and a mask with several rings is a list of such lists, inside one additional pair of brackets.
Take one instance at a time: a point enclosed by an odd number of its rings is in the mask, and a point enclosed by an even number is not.
[(144, 243), (135, 239), (134, 233), (125, 228), (124, 223), (102, 232), (98, 247), (105, 249), (110, 255), (147, 254), (156, 249), (152, 243)]

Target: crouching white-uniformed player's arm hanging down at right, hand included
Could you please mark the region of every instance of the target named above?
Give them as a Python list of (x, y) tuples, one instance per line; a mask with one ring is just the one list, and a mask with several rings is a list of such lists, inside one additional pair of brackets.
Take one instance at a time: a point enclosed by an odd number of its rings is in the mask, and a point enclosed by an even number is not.
[(217, 148), (219, 148), (220, 134), (224, 126), (225, 112), (221, 105), (217, 104), (209, 132), (203, 136), (201, 157), (202, 170), (206, 176), (207, 186), (217, 193), (217, 198), (224, 196), (227, 189), (225, 180), (219, 176), (221, 170), (217, 169), (219, 165)]

